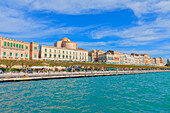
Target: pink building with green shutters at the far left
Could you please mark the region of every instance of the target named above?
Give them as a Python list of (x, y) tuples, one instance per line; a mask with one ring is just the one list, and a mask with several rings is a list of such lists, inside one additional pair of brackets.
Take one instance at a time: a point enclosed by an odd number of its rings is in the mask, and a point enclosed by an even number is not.
[[(0, 36), (0, 59), (30, 60), (38, 59), (38, 43), (3, 38)], [(35, 46), (36, 45), (36, 46)], [(36, 47), (36, 50), (34, 50)], [(34, 48), (34, 49), (31, 49)], [(34, 55), (37, 56), (34, 56)], [(33, 56), (33, 57), (31, 57)]]

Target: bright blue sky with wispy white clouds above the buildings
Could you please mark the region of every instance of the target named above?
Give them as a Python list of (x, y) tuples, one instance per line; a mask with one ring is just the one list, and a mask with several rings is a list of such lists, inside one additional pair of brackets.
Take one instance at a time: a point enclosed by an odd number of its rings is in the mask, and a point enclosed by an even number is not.
[(170, 58), (170, 0), (1, 0), (0, 36)]

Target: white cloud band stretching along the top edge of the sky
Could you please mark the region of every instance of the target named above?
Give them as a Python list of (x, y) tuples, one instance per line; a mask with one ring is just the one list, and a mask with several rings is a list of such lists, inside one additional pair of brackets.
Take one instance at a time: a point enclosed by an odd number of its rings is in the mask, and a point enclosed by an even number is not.
[(170, 10), (170, 1), (167, 0), (12, 0), (7, 1), (7, 4), (62, 14), (93, 14), (131, 9), (138, 17), (146, 13), (167, 13)]

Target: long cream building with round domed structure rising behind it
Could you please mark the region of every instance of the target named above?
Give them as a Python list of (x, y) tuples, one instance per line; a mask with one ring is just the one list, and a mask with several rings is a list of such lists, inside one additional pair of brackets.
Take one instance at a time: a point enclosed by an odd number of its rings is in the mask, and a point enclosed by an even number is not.
[[(64, 40), (64, 41), (63, 41)], [(88, 51), (84, 49), (77, 49), (77, 44), (71, 42), (70, 39), (64, 38), (61, 41), (56, 42), (52, 46), (41, 46), (40, 48), (40, 59), (41, 60), (64, 60), (64, 61), (88, 61)], [(65, 43), (64, 45), (60, 43)], [(61, 46), (62, 45), (62, 46)]]

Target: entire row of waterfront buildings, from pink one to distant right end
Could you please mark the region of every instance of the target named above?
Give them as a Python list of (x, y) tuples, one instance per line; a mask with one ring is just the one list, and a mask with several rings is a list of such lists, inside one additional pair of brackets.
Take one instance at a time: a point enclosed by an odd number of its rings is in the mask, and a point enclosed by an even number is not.
[(164, 66), (163, 58), (151, 58), (148, 54), (130, 55), (119, 51), (77, 49), (77, 44), (68, 38), (63, 38), (52, 46), (40, 47), (39, 43), (28, 43), (0, 36), (0, 59), (14, 60), (62, 60), (62, 61), (90, 61), (108, 64)]

